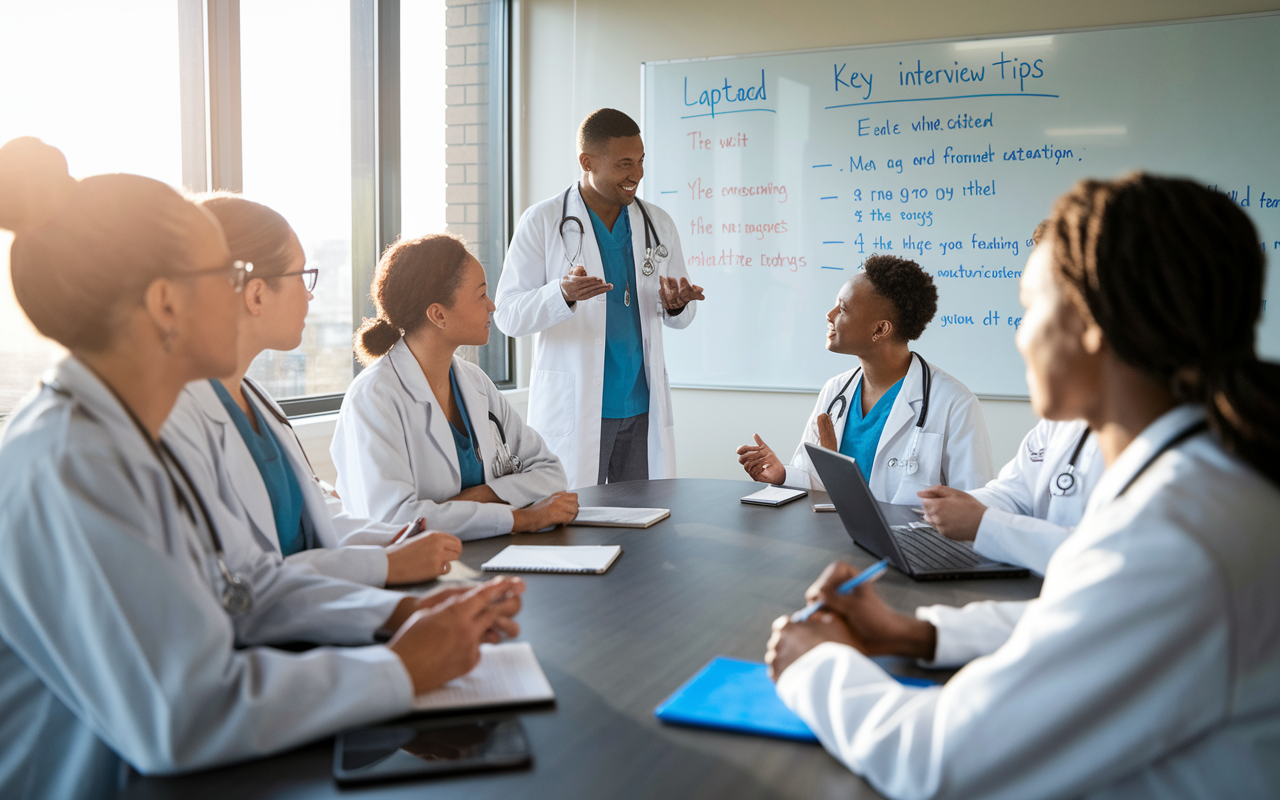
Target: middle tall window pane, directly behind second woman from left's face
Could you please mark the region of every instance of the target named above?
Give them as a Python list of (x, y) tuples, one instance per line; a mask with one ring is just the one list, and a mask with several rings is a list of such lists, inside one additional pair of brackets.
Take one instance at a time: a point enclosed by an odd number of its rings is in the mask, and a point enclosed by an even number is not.
[(342, 393), (353, 375), (351, 9), (253, 0), (239, 33), (244, 197), (289, 220), (320, 270), (302, 344), (264, 352), (250, 375), (278, 398)]

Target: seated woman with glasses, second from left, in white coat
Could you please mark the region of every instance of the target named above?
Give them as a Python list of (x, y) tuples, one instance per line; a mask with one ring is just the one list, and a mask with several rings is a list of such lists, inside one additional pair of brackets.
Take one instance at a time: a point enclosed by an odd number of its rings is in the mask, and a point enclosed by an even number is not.
[(457, 538), (430, 532), (396, 541), (421, 521), (397, 526), (334, 516), (330, 506), (339, 512), (342, 506), (329, 503), (284, 411), (246, 376), (264, 349), (302, 342), (319, 270), (307, 269), (293, 229), (271, 209), (236, 195), (197, 202), (218, 218), (232, 257), (253, 271), (241, 292), (236, 372), (189, 384), (165, 422), (165, 439), (193, 474), (215, 477), (209, 490), (243, 521), (236, 530), (251, 531), (273, 556), (371, 586), (420, 584), (447, 572), (462, 553)]

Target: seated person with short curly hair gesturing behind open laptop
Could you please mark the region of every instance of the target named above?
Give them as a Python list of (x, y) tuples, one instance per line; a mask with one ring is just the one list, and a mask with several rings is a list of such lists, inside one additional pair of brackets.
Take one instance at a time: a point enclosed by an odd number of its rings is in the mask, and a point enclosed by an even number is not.
[(822, 490), (804, 445), (851, 456), (881, 502), (919, 506), (936, 484), (977, 489), (995, 475), (978, 398), (910, 343), (938, 308), (933, 278), (914, 261), (874, 255), (827, 312), (827, 349), (859, 366), (822, 388), (790, 465), (755, 436), (737, 448), (753, 480)]

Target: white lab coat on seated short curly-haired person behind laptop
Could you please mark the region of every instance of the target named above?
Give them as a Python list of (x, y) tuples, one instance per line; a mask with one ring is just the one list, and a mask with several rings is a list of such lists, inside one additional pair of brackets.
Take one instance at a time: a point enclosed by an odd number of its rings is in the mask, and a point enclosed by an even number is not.
[[(893, 399), (893, 407), (890, 408), (879, 444), (876, 447), (870, 489), (877, 500), (897, 506), (919, 506), (920, 498), (915, 493), (920, 489), (937, 484), (964, 490), (977, 489), (986, 485), (996, 474), (991, 457), (991, 439), (987, 436), (987, 422), (982, 417), (978, 398), (955, 378), (932, 364), (929, 367), (933, 376), (929, 413), (924, 420), (924, 430), (920, 431), (920, 442), (915, 452), (919, 468), (914, 475), (906, 474), (906, 458), (915, 435), (915, 422), (924, 406), (920, 362), (918, 358), (911, 358), (911, 366), (906, 370), (902, 388)], [(800, 445), (796, 447), (795, 456), (786, 468), (785, 485), (824, 490), (822, 479), (818, 477), (818, 471), (809, 461), (809, 453), (805, 452), (804, 445), (805, 443), (818, 444), (818, 415), (827, 412), (827, 407), (836, 399), (840, 389), (852, 374), (854, 370), (849, 370), (836, 375), (818, 393), (818, 402), (805, 424)], [(845, 390), (845, 403), (852, 402), (856, 390), (858, 381), (849, 384)], [(840, 411), (840, 403), (836, 403), (835, 411)], [(838, 420), (832, 419), (837, 449), (845, 439), (846, 421), (844, 416)], [(865, 466), (863, 466), (865, 475)]]

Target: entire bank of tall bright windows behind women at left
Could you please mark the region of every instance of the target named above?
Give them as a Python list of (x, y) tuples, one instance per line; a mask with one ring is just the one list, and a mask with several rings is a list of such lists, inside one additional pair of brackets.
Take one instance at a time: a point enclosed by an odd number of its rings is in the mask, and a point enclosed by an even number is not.
[[(0, 143), (38, 136), (73, 175), (132, 172), (271, 206), (320, 269), (301, 347), (250, 374), (291, 413), (358, 369), (381, 251), (463, 236), (497, 287), (511, 227), (507, 0), (128, 0), (0, 5)], [(60, 348), (0, 288), (0, 415)], [(511, 385), (511, 342), (463, 352)]]

